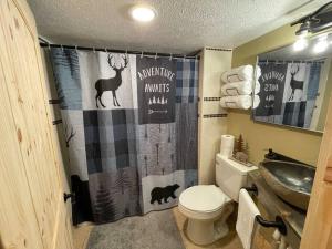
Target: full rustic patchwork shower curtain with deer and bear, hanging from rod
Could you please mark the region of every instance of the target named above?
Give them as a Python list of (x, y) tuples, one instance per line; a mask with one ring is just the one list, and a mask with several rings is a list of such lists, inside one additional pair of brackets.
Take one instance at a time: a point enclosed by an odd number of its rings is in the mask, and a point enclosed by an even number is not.
[(73, 222), (177, 205), (197, 184), (198, 61), (52, 48)]

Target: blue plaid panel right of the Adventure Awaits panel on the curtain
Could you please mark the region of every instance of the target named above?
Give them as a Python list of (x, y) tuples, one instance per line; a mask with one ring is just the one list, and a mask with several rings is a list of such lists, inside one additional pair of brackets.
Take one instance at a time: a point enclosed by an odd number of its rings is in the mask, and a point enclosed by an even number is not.
[(178, 59), (176, 64), (176, 103), (193, 103), (198, 98), (198, 60)]

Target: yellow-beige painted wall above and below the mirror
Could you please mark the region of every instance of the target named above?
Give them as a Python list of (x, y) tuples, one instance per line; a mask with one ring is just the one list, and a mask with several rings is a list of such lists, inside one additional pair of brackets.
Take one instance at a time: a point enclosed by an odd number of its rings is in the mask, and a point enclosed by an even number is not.
[[(255, 64), (258, 54), (293, 43), (295, 30), (297, 27), (284, 25), (236, 48), (232, 55), (232, 68)], [(249, 143), (250, 160), (255, 164), (263, 159), (266, 154), (263, 149), (273, 148), (281, 154), (315, 165), (322, 137), (322, 134), (319, 133), (256, 123), (251, 120), (250, 112), (243, 111), (229, 112), (228, 133), (243, 135)]]

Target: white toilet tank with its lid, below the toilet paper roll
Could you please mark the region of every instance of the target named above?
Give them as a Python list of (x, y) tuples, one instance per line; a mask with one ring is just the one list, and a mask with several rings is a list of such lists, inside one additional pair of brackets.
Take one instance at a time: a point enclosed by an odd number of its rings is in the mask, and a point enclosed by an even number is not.
[(240, 189), (247, 186), (248, 173), (257, 169), (257, 166), (247, 167), (217, 154), (216, 185), (232, 200), (238, 203)]

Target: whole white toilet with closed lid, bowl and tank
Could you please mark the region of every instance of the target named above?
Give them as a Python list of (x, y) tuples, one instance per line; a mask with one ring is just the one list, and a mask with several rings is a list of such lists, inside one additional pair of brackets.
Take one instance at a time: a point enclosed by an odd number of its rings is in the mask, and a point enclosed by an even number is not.
[(216, 156), (216, 185), (198, 185), (179, 196), (179, 211), (187, 217), (184, 231), (193, 242), (208, 245), (228, 234), (227, 218), (238, 203), (239, 191), (247, 186), (247, 167), (220, 154)]

